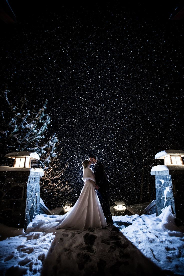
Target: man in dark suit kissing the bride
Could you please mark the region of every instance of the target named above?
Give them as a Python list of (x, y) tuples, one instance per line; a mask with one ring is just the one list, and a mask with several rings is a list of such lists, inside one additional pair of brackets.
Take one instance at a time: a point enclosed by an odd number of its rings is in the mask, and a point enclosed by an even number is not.
[(113, 225), (112, 214), (109, 206), (109, 183), (106, 177), (104, 165), (100, 163), (94, 155), (91, 155), (89, 160), (91, 164), (94, 164), (93, 172), (96, 178), (96, 190), (98, 190), (101, 195), (99, 200), (106, 218), (107, 225)]

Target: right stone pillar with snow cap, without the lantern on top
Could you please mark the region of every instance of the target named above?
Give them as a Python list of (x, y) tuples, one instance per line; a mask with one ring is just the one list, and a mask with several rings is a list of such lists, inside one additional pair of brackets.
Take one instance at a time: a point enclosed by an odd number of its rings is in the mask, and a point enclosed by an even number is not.
[(177, 221), (184, 222), (184, 169), (172, 169), (164, 165), (165, 170), (159, 170), (158, 165), (152, 168), (155, 175), (157, 216), (162, 209), (171, 205)]

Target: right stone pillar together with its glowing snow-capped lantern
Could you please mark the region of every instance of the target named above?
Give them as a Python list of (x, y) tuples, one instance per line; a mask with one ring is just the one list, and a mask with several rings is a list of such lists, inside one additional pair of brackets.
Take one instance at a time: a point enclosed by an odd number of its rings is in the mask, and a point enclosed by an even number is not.
[(155, 159), (164, 159), (164, 164), (151, 169), (151, 175), (155, 175), (157, 216), (162, 213), (162, 209), (171, 205), (178, 223), (184, 222), (183, 156), (183, 150), (159, 152)]

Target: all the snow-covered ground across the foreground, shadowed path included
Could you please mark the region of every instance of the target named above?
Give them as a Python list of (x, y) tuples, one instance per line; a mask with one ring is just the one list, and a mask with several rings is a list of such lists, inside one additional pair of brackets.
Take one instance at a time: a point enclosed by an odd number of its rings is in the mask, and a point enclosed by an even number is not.
[(120, 232), (113, 226), (83, 231), (39, 228), (57, 225), (58, 218), (37, 215), (26, 233), (1, 224), (1, 274), (155, 275), (157, 266), (167, 275), (184, 275), (184, 229), (175, 225), (170, 206), (158, 217), (114, 216)]

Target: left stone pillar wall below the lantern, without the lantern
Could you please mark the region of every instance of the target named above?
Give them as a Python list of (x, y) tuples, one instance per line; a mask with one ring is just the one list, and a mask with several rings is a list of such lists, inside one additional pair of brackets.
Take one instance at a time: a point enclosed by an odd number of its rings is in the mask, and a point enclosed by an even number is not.
[(39, 203), (40, 176), (38, 173), (0, 172), (1, 223), (26, 229), (33, 217), (39, 214)]

